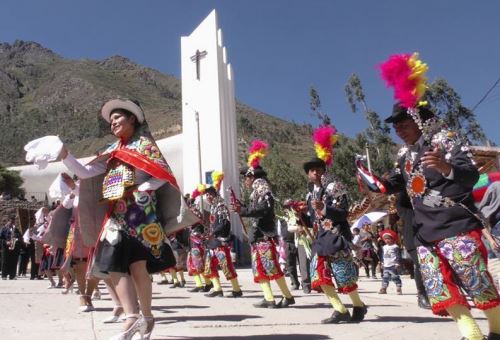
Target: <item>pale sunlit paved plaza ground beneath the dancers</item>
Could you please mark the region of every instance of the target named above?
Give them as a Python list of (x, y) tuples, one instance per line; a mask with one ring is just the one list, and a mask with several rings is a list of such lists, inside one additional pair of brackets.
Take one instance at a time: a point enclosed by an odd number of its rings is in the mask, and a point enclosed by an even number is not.
[[(494, 261), (495, 275), (500, 262)], [(417, 307), (415, 285), (405, 276), (403, 295), (395, 295), (393, 284), (387, 295), (377, 294), (380, 279), (361, 277), (359, 286), (369, 306), (365, 321), (359, 324), (322, 325), (331, 306), (322, 294), (294, 291), (296, 305), (287, 309), (257, 309), (253, 303), (262, 298), (249, 269), (238, 274), (244, 296), (239, 299), (207, 298), (202, 293), (189, 293), (193, 287), (171, 289), (153, 285), (156, 317), (154, 339), (460, 339), (450, 318), (436, 317)], [(159, 277), (155, 276), (155, 281)], [(225, 291), (230, 285), (223, 281)], [(95, 301), (96, 311), (78, 312), (77, 295), (62, 295), (60, 289), (47, 289), (47, 281), (0, 281), (0, 339), (108, 339), (120, 331), (120, 324), (103, 324), (112, 302), (109, 295)], [(276, 295), (277, 286), (273, 285)], [(103, 292), (105, 290), (103, 289)], [(342, 297), (349, 303), (347, 296)], [(350, 308), (350, 304), (348, 304)], [(487, 321), (476, 309), (483, 332)]]

